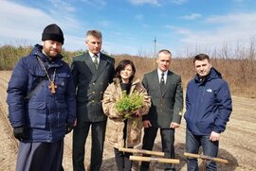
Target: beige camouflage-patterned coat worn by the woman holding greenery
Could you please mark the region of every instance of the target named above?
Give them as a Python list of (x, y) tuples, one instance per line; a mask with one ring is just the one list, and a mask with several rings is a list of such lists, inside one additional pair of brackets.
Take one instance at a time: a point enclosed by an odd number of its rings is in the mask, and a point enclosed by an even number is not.
[[(141, 140), (141, 129), (142, 124), (142, 115), (147, 114), (151, 107), (151, 98), (147, 94), (147, 91), (140, 83), (139, 79), (134, 79), (135, 81), (131, 85), (132, 93), (142, 94), (144, 96), (144, 106), (139, 109), (140, 116), (136, 117), (137, 126), (133, 125), (133, 120), (128, 119), (127, 121), (127, 133), (126, 133), (126, 142), (125, 147), (132, 147), (138, 145)], [(123, 139), (123, 128), (124, 122), (119, 118), (119, 115), (115, 109), (116, 102), (122, 96), (119, 79), (114, 79), (114, 82), (111, 83), (103, 95), (102, 108), (104, 113), (108, 116), (107, 121), (107, 132), (110, 132), (110, 135), (106, 137), (106, 140), (116, 148), (124, 146)]]

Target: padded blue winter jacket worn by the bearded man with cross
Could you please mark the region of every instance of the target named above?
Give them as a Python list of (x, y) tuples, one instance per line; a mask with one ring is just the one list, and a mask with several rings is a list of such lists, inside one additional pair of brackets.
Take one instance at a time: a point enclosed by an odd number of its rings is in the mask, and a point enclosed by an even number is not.
[[(24, 142), (59, 141), (64, 138), (65, 125), (76, 119), (76, 92), (69, 66), (61, 55), (49, 60), (42, 48), (36, 44), (27, 57), (19, 60), (9, 80), (9, 121), (13, 128), (27, 128), (28, 139)], [(49, 77), (56, 69), (56, 94), (51, 94), (46, 71), (37, 57), (44, 62)]]

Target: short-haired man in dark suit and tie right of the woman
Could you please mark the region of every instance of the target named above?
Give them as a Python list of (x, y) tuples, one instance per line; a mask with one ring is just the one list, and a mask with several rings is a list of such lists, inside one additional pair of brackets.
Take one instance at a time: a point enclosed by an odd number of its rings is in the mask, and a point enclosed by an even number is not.
[[(152, 97), (152, 107), (143, 116), (143, 149), (152, 150), (157, 129), (160, 128), (162, 151), (166, 158), (174, 159), (174, 130), (179, 127), (183, 109), (181, 77), (168, 70), (172, 54), (163, 49), (157, 55), (157, 69), (142, 80)], [(142, 162), (141, 170), (149, 170), (149, 162)], [(165, 164), (165, 170), (175, 170), (173, 164)]]

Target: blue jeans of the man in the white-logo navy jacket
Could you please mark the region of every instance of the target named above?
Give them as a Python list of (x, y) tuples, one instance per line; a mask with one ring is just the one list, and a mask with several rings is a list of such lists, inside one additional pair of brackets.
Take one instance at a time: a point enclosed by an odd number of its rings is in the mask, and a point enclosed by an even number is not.
[[(192, 132), (187, 129), (186, 130), (186, 152), (198, 154), (199, 147), (202, 145), (204, 155), (210, 157), (217, 157), (218, 155), (218, 146), (219, 142), (211, 142), (210, 135), (206, 136), (198, 136), (193, 135)], [(190, 171), (197, 171), (198, 170), (198, 163), (197, 159), (188, 158), (187, 161), (188, 170)], [(208, 171), (215, 171), (217, 170), (216, 162), (210, 161), (207, 162), (207, 170)]]

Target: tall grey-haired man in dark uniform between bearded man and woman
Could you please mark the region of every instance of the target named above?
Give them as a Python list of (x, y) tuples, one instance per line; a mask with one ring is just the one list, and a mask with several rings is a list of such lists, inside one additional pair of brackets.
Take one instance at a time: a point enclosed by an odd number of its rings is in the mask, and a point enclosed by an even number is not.
[(89, 30), (85, 41), (88, 52), (77, 56), (71, 71), (77, 88), (77, 126), (73, 132), (73, 168), (84, 171), (84, 145), (91, 127), (91, 171), (99, 171), (102, 162), (106, 115), (101, 99), (115, 74), (115, 60), (101, 53), (99, 30)]

